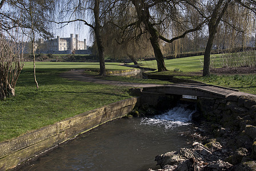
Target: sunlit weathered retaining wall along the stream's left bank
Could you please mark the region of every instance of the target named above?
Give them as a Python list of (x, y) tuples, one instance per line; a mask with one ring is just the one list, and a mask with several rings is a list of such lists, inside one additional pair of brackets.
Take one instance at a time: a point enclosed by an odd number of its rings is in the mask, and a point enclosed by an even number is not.
[(0, 143), (0, 170), (14, 168), (29, 158), (64, 143), (79, 133), (125, 116), (133, 110), (137, 101), (137, 97), (118, 101)]

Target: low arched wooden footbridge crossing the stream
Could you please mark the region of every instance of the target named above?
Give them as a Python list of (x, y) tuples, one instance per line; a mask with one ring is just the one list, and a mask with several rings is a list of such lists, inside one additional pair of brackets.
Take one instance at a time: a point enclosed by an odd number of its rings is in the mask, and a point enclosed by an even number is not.
[(158, 87), (145, 87), (142, 92), (166, 93), (173, 95), (188, 95), (198, 97), (211, 97), (224, 99), (235, 92), (237, 89), (213, 86), (209, 84), (196, 83), (177, 83), (165, 84)]

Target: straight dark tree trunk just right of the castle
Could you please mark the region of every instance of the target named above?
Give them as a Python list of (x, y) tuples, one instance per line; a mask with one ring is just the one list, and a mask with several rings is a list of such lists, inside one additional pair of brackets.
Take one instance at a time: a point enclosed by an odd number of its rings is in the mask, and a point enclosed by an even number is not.
[(99, 75), (106, 75), (106, 68), (105, 68), (105, 58), (104, 58), (104, 47), (102, 44), (101, 32), (100, 32), (100, 21), (99, 21), (99, 0), (95, 0), (94, 4), (94, 17), (95, 17), (95, 39), (97, 42), (98, 52), (99, 52)]

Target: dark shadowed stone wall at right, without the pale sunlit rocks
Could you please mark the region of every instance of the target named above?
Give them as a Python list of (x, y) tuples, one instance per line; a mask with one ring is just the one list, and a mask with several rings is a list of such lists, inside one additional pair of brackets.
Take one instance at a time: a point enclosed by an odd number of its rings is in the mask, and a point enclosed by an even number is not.
[[(199, 98), (198, 107), (202, 112), (199, 117), (212, 123), (214, 136), (229, 138), (226, 145), (234, 150), (234, 155), (227, 161), (235, 165), (256, 160), (256, 95), (237, 92), (226, 99)], [(241, 148), (249, 153), (237, 161), (235, 153)]]

